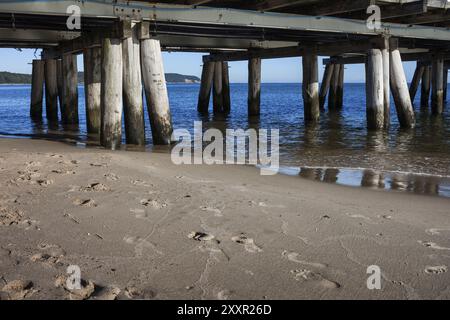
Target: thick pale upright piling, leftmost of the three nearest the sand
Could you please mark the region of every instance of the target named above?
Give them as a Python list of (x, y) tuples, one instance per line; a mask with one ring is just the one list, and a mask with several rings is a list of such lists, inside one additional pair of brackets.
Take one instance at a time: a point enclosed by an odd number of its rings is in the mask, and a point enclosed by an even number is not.
[(105, 148), (115, 150), (122, 143), (122, 40), (104, 38), (102, 51), (100, 141)]

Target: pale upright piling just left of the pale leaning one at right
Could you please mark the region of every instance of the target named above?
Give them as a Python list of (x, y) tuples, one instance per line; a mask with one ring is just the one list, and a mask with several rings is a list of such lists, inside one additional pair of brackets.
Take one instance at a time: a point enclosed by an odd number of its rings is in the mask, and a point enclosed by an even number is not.
[(383, 71), (383, 55), (381, 50), (369, 50), (366, 66), (366, 113), (367, 127), (369, 130), (380, 130), (384, 127)]

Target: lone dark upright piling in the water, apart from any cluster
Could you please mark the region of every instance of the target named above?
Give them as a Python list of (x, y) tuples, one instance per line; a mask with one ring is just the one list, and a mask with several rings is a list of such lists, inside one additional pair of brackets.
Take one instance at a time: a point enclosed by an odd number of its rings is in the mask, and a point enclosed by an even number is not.
[(248, 115), (259, 116), (261, 112), (261, 59), (248, 62)]

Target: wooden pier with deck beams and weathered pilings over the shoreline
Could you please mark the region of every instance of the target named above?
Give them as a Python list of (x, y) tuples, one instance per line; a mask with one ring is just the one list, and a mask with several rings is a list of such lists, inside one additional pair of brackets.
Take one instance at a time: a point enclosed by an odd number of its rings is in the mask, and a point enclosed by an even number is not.
[[(374, 5), (381, 21), (372, 26)], [(345, 107), (345, 66), (365, 64), (367, 128), (381, 131), (390, 126), (391, 94), (402, 128), (415, 126), (419, 87), (422, 109), (443, 113), (448, 9), (445, 0), (2, 1), (0, 47), (43, 49), (33, 61), (30, 115), (42, 117), (45, 91), (47, 119), (69, 125), (78, 123), (82, 54), (87, 131), (108, 149), (120, 147), (122, 122), (128, 144), (145, 144), (143, 93), (154, 144), (170, 144), (162, 51), (204, 53), (200, 113), (210, 112), (211, 99), (215, 114), (233, 112), (228, 64), (248, 61), (249, 117), (264, 113), (262, 60), (302, 57), (305, 125)], [(68, 19), (77, 18), (79, 28), (69, 28)], [(323, 79), (319, 56), (326, 57)], [(417, 63), (409, 87), (405, 61)]]

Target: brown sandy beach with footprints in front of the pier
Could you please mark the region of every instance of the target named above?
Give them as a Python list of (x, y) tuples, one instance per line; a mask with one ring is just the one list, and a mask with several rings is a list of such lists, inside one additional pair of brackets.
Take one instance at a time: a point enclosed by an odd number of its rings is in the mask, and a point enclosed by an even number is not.
[(448, 199), (17, 139), (0, 183), (0, 299), (450, 298)]

